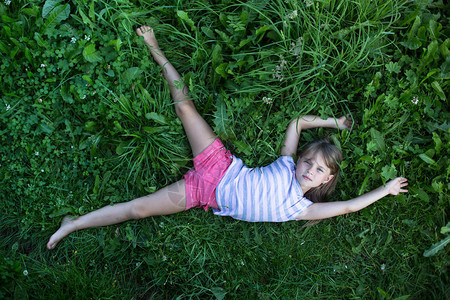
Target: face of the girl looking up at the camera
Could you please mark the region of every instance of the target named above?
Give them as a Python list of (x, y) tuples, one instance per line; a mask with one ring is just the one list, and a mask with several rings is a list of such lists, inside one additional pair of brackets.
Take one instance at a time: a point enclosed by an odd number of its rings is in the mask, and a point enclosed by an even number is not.
[(311, 188), (318, 187), (333, 179), (330, 168), (325, 164), (322, 153), (307, 154), (297, 161), (295, 177), (300, 184), (303, 193)]

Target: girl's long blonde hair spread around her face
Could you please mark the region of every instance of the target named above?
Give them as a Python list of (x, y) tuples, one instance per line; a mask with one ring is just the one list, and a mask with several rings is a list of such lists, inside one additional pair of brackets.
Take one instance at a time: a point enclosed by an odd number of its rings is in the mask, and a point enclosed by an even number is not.
[[(333, 144), (330, 138), (326, 137), (305, 146), (300, 152), (299, 157), (308, 157), (309, 155), (317, 155), (318, 153), (322, 154), (325, 164), (330, 169), (330, 175), (333, 175), (333, 178), (327, 183), (311, 188), (304, 196), (312, 202), (325, 202), (336, 188), (340, 171), (339, 165), (342, 162), (342, 153), (341, 150)], [(317, 224), (320, 221), (321, 220), (308, 221), (303, 227)]]

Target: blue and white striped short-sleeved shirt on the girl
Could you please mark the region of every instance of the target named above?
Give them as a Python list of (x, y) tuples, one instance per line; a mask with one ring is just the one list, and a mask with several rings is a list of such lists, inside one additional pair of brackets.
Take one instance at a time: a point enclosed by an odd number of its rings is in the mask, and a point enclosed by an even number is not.
[(216, 188), (214, 214), (248, 222), (295, 220), (312, 202), (303, 197), (295, 177), (296, 164), (281, 156), (262, 168), (248, 168), (233, 156)]

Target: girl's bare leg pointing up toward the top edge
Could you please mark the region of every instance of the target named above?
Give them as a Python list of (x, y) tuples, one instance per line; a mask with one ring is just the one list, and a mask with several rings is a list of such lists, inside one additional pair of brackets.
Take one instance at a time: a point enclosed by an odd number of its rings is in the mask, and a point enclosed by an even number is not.
[(150, 49), (155, 62), (163, 68), (164, 78), (169, 83), (170, 93), (175, 103), (175, 111), (183, 123), (184, 130), (192, 148), (193, 157), (196, 157), (206, 149), (215, 139), (216, 134), (206, 121), (200, 116), (194, 102), (188, 95), (188, 88), (182, 82), (177, 70), (161, 51), (153, 29), (142, 26), (136, 30), (139, 36), (144, 37), (144, 43)]

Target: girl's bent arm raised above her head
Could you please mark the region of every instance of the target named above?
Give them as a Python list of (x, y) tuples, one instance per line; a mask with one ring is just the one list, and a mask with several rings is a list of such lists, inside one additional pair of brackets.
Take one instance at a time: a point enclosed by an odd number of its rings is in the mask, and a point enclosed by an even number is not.
[(351, 120), (350, 115), (340, 117), (339, 119), (328, 118), (327, 120), (323, 120), (318, 116), (300, 116), (297, 119), (292, 120), (288, 125), (284, 146), (281, 148), (281, 155), (291, 156), (297, 153), (300, 133), (304, 129), (316, 127), (350, 129), (352, 125), (353, 121)]

